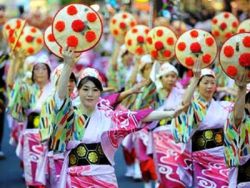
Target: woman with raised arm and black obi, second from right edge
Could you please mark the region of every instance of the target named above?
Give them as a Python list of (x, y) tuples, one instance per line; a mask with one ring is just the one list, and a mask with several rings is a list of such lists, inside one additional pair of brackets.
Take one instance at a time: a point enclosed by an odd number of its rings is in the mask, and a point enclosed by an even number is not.
[(232, 104), (213, 99), (215, 74), (211, 69), (200, 70), (197, 63), (183, 98), (189, 108), (172, 121), (175, 140), (185, 143), (180, 156), (185, 160), (177, 172), (186, 187), (227, 187), (223, 128)]

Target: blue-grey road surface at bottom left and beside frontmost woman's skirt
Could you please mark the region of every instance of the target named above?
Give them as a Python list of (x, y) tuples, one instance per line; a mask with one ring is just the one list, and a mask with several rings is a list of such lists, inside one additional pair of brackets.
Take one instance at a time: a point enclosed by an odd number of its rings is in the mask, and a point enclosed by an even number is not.
[[(5, 126), (3, 151), (7, 156), (6, 159), (0, 160), (0, 188), (25, 188), (22, 179), (22, 171), (19, 167), (19, 159), (15, 155), (15, 147), (9, 143), (9, 128)], [(125, 173), (124, 159), (121, 150), (118, 150), (115, 157), (116, 175), (120, 188), (142, 188), (141, 182), (135, 182), (123, 176)]]

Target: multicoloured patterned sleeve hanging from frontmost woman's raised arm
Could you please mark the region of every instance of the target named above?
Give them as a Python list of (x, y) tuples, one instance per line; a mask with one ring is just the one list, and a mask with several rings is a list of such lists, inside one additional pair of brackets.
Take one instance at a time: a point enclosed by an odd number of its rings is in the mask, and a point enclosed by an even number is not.
[(73, 133), (75, 114), (69, 97), (61, 100), (56, 94), (54, 100), (55, 114), (51, 119), (53, 127), (50, 147), (54, 151), (63, 152), (66, 150), (66, 143), (71, 139)]

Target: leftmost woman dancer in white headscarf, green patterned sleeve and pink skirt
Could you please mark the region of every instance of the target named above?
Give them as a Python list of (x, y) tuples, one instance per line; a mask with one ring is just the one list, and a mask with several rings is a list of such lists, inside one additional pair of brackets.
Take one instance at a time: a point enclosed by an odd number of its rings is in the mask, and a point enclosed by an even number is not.
[[(11, 66), (14, 66), (11, 64)], [(8, 84), (14, 83), (14, 68), (10, 67)], [(36, 60), (32, 69), (32, 84), (17, 81), (9, 97), (9, 112), (20, 122), (25, 122), (25, 128), (19, 136), (16, 153), (23, 161), (24, 177), (29, 187), (43, 186), (36, 180), (36, 169), (42, 162), (44, 146), (40, 143), (39, 114), (43, 102), (51, 92), (50, 63), (47, 56)], [(11, 78), (12, 77), (12, 78)]]

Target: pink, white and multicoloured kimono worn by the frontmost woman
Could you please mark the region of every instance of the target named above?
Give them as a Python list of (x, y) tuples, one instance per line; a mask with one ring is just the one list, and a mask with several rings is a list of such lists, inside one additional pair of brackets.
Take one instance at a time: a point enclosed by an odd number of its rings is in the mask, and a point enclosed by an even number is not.
[[(114, 154), (122, 139), (131, 132), (140, 129), (140, 121), (152, 110), (114, 111), (112, 100), (100, 98), (91, 117), (82, 114), (78, 106), (73, 107), (69, 98), (60, 100), (55, 96), (56, 117), (54, 124), (54, 146), (65, 152), (58, 187), (118, 187), (114, 171)], [(73, 149), (100, 143), (102, 151), (110, 164), (73, 165), (76, 158), (71, 157)], [(79, 155), (82, 154), (81, 152)], [(90, 152), (88, 157), (95, 159)], [(77, 161), (78, 162), (78, 161)]]

